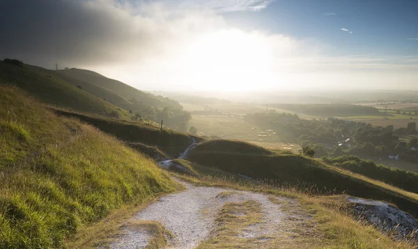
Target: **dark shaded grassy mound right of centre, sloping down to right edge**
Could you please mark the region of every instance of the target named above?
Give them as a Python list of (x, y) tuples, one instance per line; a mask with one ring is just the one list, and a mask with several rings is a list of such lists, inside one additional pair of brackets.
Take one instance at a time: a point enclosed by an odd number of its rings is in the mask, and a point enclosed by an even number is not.
[(235, 142), (222, 140), (203, 141), (190, 151), (187, 159), (200, 166), (266, 179), (277, 184), (307, 184), (318, 188), (322, 193), (331, 191), (385, 200), (418, 216), (418, 195), (415, 193), (402, 191), (291, 152), (272, 153), (258, 146), (233, 143)]

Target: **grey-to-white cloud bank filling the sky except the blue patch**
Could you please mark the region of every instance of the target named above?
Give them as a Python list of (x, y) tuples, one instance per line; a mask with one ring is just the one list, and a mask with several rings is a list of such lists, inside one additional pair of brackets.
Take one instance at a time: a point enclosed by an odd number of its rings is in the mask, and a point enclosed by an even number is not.
[[(8, 10), (0, 15), (0, 58), (95, 70), (146, 90), (304, 88), (333, 86), (335, 79), (353, 86), (355, 70), (376, 72), (379, 83), (392, 79), (390, 72), (410, 75), (405, 82), (416, 85), (410, 71), (417, 65), (326, 56), (327, 45), (315, 40), (234, 29), (219, 13), (263, 10), (270, 1), (121, 2), (0, 1), (0, 10)], [(400, 81), (395, 76), (391, 83)], [(358, 82), (364, 86), (369, 78)]]

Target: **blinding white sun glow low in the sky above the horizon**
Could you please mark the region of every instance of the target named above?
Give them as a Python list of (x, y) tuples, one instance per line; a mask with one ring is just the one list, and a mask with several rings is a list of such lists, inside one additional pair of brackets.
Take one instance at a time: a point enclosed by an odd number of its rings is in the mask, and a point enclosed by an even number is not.
[(272, 82), (272, 47), (260, 35), (240, 30), (204, 33), (180, 57), (179, 77), (200, 90), (254, 90)]

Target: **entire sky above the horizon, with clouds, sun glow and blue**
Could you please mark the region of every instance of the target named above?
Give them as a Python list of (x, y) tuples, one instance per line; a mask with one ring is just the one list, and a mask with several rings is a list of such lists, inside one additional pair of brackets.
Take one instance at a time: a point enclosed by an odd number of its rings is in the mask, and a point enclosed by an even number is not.
[(418, 1), (2, 0), (0, 58), (141, 90), (418, 90)]

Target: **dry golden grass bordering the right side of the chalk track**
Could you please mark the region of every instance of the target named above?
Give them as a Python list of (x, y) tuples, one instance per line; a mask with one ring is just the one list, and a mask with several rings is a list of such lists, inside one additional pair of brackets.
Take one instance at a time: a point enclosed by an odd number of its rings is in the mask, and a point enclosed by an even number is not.
[[(195, 184), (204, 186), (222, 186), (244, 191), (256, 191), (271, 195), (270, 200), (274, 202), (274, 196), (285, 196), (300, 203), (299, 206), (281, 204), (282, 211), (286, 216), (298, 213), (304, 216), (311, 216), (311, 221), (302, 224), (291, 224), (288, 229), (291, 239), (280, 238), (270, 248), (414, 248), (410, 241), (394, 241), (387, 234), (382, 234), (375, 227), (365, 225), (355, 220), (346, 209), (346, 195), (321, 196), (309, 194), (309, 190), (297, 188), (296, 186), (278, 187), (277, 185), (262, 184), (253, 181), (246, 181), (236, 177), (201, 175), (201, 177), (187, 177), (177, 175)], [(218, 216), (219, 217), (219, 216)], [(303, 232), (309, 231), (309, 234)], [(218, 238), (219, 239), (219, 238)], [(226, 241), (228, 238), (224, 238)], [(235, 241), (235, 237), (230, 237)], [(206, 241), (205, 243), (212, 243)], [(227, 241), (226, 241), (227, 242)], [(209, 244), (210, 245), (210, 244)], [(242, 246), (247, 248), (248, 244)], [(249, 248), (251, 248), (249, 246)]]

